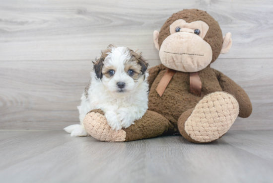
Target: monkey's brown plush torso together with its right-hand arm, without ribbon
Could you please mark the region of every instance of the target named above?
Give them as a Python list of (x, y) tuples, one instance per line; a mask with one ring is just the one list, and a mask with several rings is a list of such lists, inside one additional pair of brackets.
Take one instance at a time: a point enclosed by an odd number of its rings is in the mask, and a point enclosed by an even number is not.
[[(158, 72), (158, 68), (162, 70)], [(198, 72), (202, 81), (201, 96), (190, 92), (190, 73), (177, 71), (162, 97), (158, 95), (156, 88), (167, 68), (156, 66), (150, 68), (151, 73), (154, 72), (153, 69), (158, 72), (158, 75), (150, 88), (149, 110), (163, 115), (175, 127), (177, 127), (177, 120), (182, 113), (194, 108), (205, 95), (215, 91), (226, 91), (235, 96), (239, 102), (240, 110), (243, 110), (243, 113), (241, 112), (239, 116), (251, 114), (252, 106), (247, 93), (240, 86), (235, 84), (235, 82), (215, 69), (206, 67)], [(223, 82), (223, 80), (225, 82)]]

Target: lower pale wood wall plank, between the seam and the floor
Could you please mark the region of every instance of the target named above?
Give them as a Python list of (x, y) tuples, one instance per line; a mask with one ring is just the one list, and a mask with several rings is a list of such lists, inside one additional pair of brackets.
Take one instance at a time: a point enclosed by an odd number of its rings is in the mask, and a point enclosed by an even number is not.
[[(238, 118), (232, 130), (273, 129), (272, 62), (218, 59), (212, 64), (242, 86), (253, 103), (252, 115)], [(91, 61), (1, 62), (0, 129), (61, 129), (78, 123), (76, 106), (91, 70)]]

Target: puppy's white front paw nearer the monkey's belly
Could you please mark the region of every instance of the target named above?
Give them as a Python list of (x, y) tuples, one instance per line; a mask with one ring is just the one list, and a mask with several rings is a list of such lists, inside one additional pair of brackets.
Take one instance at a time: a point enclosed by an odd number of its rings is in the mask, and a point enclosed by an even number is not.
[(118, 121), (120, 121), (122, 127), (128, 128), (131, 124), (134, 124), (134, 117), (128, 108), (119, 108), (117, 113)]

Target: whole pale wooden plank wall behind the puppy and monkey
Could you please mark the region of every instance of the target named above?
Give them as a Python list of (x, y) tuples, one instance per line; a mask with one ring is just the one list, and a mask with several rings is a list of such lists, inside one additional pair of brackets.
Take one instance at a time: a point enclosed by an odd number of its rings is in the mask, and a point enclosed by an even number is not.
[(108, 44), (160, 63), (153, 30), (174, 12), (210, 13), (233, 47), (212, 67), (249, 94), (253, 114), (233, 130), (273, 129), (272, 0), (0, 0), (0, 129), (61, 129), (76, 106), (92, 60)]

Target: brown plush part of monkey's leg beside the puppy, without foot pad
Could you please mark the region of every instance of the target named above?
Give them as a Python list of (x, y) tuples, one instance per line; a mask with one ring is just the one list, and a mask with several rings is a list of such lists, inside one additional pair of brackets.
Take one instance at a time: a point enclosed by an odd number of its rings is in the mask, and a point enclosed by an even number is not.
[(160, 136), (173, 129), (173, 125), (162, 115), (147, 110), (135, 124), (123, 129), (126, 131), (126, 140), (133, 141)]

